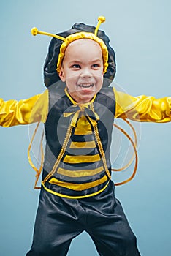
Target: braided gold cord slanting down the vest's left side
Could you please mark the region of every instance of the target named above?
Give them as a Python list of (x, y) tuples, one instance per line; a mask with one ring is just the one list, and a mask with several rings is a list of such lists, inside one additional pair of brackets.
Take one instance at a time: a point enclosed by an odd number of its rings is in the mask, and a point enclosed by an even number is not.
[(53, 169), (50, 171), (50, 173), (46, 176), (46, 178), (42, 181), (42, 184), (45, 184), (45, 182), (47, 181), (48, 178), (50, 178), (51, 176), (53, 176), (53, 174), (56, 172), (56, 168), (58, 167), (58, 165), (61, 162), (62, 157), (64, 156), (64, 153), (66, 151), (66, 146), (69, 142), (69, 138), (71, 137), (72, 134), (72, 127), (69, 126), (66, 132), (66, 137), (64, 139), (64, 143), (62, 145), (61, 151), (58, 154), (58, 158), (56, 159), (55, 165), (53, 166)]

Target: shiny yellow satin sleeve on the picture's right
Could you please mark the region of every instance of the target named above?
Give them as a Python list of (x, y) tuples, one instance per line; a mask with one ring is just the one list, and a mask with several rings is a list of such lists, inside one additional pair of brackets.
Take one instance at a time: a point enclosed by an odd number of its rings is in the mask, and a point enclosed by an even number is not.
[(145, 95), (132, 97), (116, 89), (113, 91), (116, 101), (115, 118), (156, 123), (171, 121), (171, 97), (160, 99)]

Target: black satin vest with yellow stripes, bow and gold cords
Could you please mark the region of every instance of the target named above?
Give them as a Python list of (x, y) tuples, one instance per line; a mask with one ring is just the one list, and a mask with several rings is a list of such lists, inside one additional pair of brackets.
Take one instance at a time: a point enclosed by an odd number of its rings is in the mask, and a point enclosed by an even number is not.
[(113, 88), (77, 104), (66, 89), (49, 89), (42, 185), (54, 195), (83, 198), (110, 181), (110, 143), (115, 115)]

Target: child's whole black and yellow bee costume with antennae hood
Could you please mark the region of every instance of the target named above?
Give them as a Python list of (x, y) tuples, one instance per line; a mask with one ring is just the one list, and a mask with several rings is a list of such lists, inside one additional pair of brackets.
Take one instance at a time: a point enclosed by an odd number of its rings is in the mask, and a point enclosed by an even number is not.
[[(44, 66), (47, 90), (20, 102), (0, 99), (1, 126), (45, 123), (42, 186), (33, 244), (27, 256), (64, 256), (72, 239), (83, 230), (101, 256), (140, 255), (110, 178), (113, 121), (170, 121), (171, 98), (131, 97), (109, 87), (115, 77), (115, 53), (107, 35), (99, 30), (102, 22), (104, 18), (100, 17), (96, 28), (76, 23), (58, 35), (32, 29), (34, 35), (53, 37)], [(80, 104), (69, 95), (58, 72), (69, 43), (85, 38), (102, 48), (104, 83), (91, 102)], [(34, 170), (38, 179), (41, 168)]]

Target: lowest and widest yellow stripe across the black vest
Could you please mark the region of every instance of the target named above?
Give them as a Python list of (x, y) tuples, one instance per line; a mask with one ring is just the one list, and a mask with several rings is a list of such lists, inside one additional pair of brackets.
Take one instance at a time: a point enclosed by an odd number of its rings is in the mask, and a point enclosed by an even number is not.
[(96, 181), (92, 181), (92, 182), (86, 183), (86, 184), (68, 183), (68, 182), (64, 182), (64, 181), (59, 181), (57, 178), (51, 178), (49, 183), (58, 185), (60, 187), (66, 187), (67, 189), (72, 189), (75, 191), (83, 191), (85, 189), (91, 189), (92, 187), (96, 187), (96, 186), (104, 183), (105, 181), (107, 181), (107, 176), (103, 176), (103, 178), (100, 178)]

